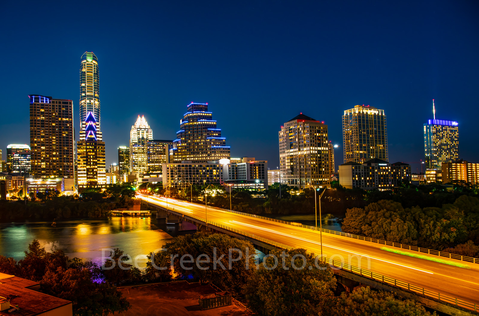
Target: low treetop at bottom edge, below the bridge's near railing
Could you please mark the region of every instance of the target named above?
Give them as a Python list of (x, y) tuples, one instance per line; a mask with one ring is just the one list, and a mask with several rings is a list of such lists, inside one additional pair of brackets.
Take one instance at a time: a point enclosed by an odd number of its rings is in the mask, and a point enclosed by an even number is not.
[[(427, 316), (424, 306), (412, 300), (396, 299), (393, 293), (372, 291), (369, 286), (359, 288), (349, 296), (342, 294), (336, 306), (324, 309), (322, 315), (334, 316)], [(436, 315), (434, 312), (433, 315)]]

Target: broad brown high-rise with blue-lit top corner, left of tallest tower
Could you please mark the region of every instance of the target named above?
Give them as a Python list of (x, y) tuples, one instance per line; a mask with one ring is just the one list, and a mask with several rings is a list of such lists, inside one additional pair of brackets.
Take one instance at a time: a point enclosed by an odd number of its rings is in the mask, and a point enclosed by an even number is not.
[(31, 175), (75, 178), (72, 101), (30, 94)]

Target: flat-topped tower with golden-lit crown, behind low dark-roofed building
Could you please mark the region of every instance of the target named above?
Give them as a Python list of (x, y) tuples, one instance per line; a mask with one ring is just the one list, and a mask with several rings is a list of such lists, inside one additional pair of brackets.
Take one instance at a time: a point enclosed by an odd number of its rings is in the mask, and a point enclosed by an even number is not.
[(342, 116), (344, 163), (363, 164), (373, 158), (388, 161), (388, 129), (384, 110), (355, 105)]

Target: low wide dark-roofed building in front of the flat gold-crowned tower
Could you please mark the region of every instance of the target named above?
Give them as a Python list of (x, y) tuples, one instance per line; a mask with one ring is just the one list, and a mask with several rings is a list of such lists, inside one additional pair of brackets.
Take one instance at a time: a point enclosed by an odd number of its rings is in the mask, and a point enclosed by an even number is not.
[(387, 190), (410, 181), (411, 166), (405, 163), (389, 164), (374, 158), (364, 164), (350, 161), (339, 166), (339, 184), (349, 189)]

